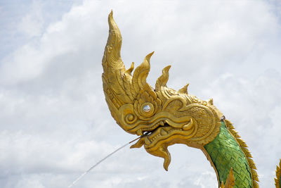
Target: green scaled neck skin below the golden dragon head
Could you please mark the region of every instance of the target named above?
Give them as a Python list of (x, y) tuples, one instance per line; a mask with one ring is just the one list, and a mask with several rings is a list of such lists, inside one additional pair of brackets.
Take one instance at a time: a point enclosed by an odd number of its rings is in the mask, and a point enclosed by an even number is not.
[(226, 183), (230, 168), (233, 168), (234, 187), (253, 187), (247, 157), (224, 122), (221, 122), (221, 130), (216, 138), (205, 145), (204, 149), (206, 149), (208, 158), (211, 159), (211, 163), (217, 172), (219, 182)]

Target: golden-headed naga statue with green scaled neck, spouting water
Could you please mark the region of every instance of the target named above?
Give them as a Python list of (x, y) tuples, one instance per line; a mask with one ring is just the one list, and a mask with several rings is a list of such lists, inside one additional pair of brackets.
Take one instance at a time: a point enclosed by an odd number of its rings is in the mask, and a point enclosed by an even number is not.
[[(213, 105), (188, 94), (188, 84), (178, 91), (166, 86), (169, 68), (162, 70), (155, 89), (146, 82), (150, 71), (148, 54), (133, 72), (122, 62), (122, 36), (113, 20), (103, 56), (103, 90), (113, 118), (123, 130), (141, 135), (131, 148), (145, 147), (148, 153), (164, 158), (164, 169), (171, 161), (167, 149), (172, 144), (186, 144), (201, 149), (216, 171), (219, 187), (259, 187), (256, 166), (247, 144), (232, 123)], [(276, 170), (280, 185), (280, 168)]]

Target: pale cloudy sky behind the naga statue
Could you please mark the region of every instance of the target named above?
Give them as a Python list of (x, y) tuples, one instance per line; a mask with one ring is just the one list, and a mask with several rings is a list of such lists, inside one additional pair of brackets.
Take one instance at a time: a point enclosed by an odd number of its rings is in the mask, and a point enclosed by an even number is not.
[[(247, 142), (260, 186), (275, 187), (281, 158), (280, 1), (0, 2), (0, 187), (67, 187), (135, 139), (113, 120), (101, 59), (113, 9), (128, 68), (151, 51), (148, 82), (172, 65), (168, 86), (214, 104)], [(217, 187), (198, 149), (163, 159), (127, 146), (74, 187)]]

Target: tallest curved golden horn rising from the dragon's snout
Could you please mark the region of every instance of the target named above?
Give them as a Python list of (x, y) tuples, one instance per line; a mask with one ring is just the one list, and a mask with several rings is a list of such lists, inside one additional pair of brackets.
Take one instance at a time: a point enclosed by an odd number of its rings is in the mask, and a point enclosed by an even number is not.
[(126, 81), (130, 82), (131, 77), (128, 74), (124, 77), (126, 69), (120, 56), (122, 36), (113, 19), (112, 11), (108, 15), (108, 25), (110, 31), (103, 54), (103, 91), (105, 92), (105, 100), (112, 112), (117, 111), (123, 104), (131, 102), (124, 87)]

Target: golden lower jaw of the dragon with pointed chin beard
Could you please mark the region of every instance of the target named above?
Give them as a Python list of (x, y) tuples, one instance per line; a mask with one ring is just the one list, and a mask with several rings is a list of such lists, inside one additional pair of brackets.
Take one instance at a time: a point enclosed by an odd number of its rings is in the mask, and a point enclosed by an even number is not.
[(171, 156), (167, 147), (176, 143), (184, 144), (186, 140), (194, 136), (196, 131), (197, 124), (192, 118), (188, 124), (183, 125), (181, 128), (172, 127), (165, 123), (164, 126), (157, 127), (151, 132), (145, 132), (143, 137), (136, 144), (133, 144), (131, 148), (139, 148), (144, 145), (148, 153), (164, 158), (164, 169), (168, 170)]

